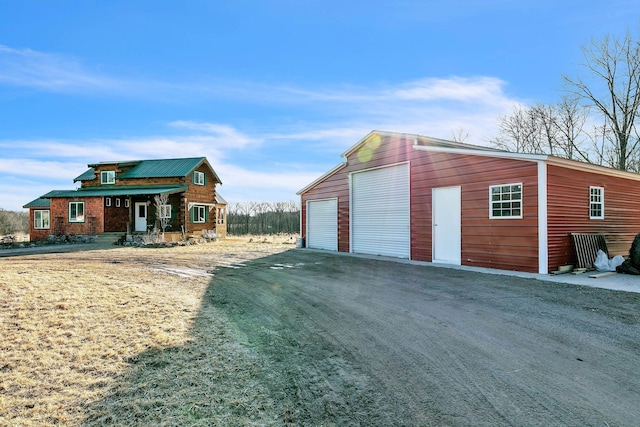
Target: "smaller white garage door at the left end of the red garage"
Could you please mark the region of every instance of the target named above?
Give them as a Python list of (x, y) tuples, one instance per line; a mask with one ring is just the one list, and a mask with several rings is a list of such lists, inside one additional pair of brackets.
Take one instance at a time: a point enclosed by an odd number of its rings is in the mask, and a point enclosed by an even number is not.
[(307, 202), (307, 242), (312, 249), (338, 250), (338, 199)]

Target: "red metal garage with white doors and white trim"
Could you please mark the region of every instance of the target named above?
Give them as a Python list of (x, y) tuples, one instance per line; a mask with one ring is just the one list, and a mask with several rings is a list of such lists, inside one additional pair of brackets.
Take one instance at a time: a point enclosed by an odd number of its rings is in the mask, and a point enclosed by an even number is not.
[(637, 174), (381, 131), (343, 157), (298, 193), (316, 241), (308, 204), (336, 201), (341, 252), (548, 273), (574, 262), (569, 233), (624, 254), (640, 232)]

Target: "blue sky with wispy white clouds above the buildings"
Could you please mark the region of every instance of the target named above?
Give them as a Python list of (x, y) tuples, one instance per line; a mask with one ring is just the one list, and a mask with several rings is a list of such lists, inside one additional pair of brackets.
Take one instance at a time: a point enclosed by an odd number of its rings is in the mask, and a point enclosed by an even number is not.
[(486, 145), (639, 24), (635, 0), (2, 0), (0, 207), (194, 156), (229, 202), (297, 200), (373, 129)]

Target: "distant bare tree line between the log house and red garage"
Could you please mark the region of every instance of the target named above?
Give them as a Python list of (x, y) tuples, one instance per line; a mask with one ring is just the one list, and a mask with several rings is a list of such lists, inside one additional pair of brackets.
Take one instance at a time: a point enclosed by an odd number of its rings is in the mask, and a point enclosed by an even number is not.
[(298, 234), (300, 204), (290, 202), (234, 202), (227, 205), (227, 233)]

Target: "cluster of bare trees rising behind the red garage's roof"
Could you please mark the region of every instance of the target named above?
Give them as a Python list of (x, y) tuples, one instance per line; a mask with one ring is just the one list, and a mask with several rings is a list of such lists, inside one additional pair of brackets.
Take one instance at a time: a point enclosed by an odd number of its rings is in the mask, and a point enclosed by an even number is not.
[(558, 102), (514, 108), (490, 142), (640, 173), (640, 41), (627, 31), (592, 39), (582, 54), (582, 72), (562, 76)]

